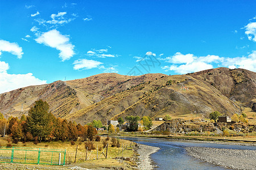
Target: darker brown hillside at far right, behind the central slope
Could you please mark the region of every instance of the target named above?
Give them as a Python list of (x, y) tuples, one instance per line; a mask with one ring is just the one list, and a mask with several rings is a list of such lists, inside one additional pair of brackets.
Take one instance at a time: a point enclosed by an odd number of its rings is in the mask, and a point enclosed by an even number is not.
[(251, 108), (253, 99), (256, 99), (256, 73), (253, 71), (220, 67), (189, 75), (205, 80), (229, 99), (239, 101), (246, 107)]

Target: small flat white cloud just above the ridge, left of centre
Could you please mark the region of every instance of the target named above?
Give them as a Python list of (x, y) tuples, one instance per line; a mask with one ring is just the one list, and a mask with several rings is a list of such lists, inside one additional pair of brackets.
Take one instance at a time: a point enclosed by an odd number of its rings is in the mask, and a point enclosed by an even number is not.
[(94, 61), (92, 59), (78, 59), (75, 62), (73, 62), (73, 69), (74, 70), (80, 70), (80, 69), (93, 69), (100, 66), (102, 62)]

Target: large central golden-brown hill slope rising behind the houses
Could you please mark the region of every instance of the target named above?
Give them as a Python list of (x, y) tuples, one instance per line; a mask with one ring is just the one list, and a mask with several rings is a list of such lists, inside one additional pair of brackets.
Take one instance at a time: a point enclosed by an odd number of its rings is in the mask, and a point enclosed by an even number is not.
[[(182, 87), (188, 87), (189, 90), (183, 90)], [(193, 113), (208, 117), (213, 111), (228, 115), (240, 113), (233, 101), (204, 80), (175, 75), (141, 83), (65, 118), (84, 124), (98, 119), (103, 122), (110, 118), (116, 120), (119, 116), (127, 115), (154, 117)]]

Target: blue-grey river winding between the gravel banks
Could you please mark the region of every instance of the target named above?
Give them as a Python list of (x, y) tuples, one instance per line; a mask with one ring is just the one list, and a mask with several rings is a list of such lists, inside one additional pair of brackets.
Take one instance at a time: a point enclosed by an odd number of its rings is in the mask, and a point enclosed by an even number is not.
[[(151, 154), (151, 159), (156, 164), (156, 169), (227, 169), (214, 164), (209, 164), (188, 156), (185, 147), (213, 147), (232, 148), (238, 150), (256, 150), (255, 146), (224, 145), (218, 143), (181, 141), (171, 139), (152, 138), (124, 138), (143, 145), (159, 147), (160, 150)], [(236, 160), (234, 160), (236, 161)]]

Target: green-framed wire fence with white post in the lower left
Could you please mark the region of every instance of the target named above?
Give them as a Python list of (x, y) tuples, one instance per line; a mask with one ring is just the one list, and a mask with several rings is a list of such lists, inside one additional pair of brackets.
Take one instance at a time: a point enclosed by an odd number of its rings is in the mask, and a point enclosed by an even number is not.
[(0, 147), (0, 163), (65, 165), (66, 150)]

